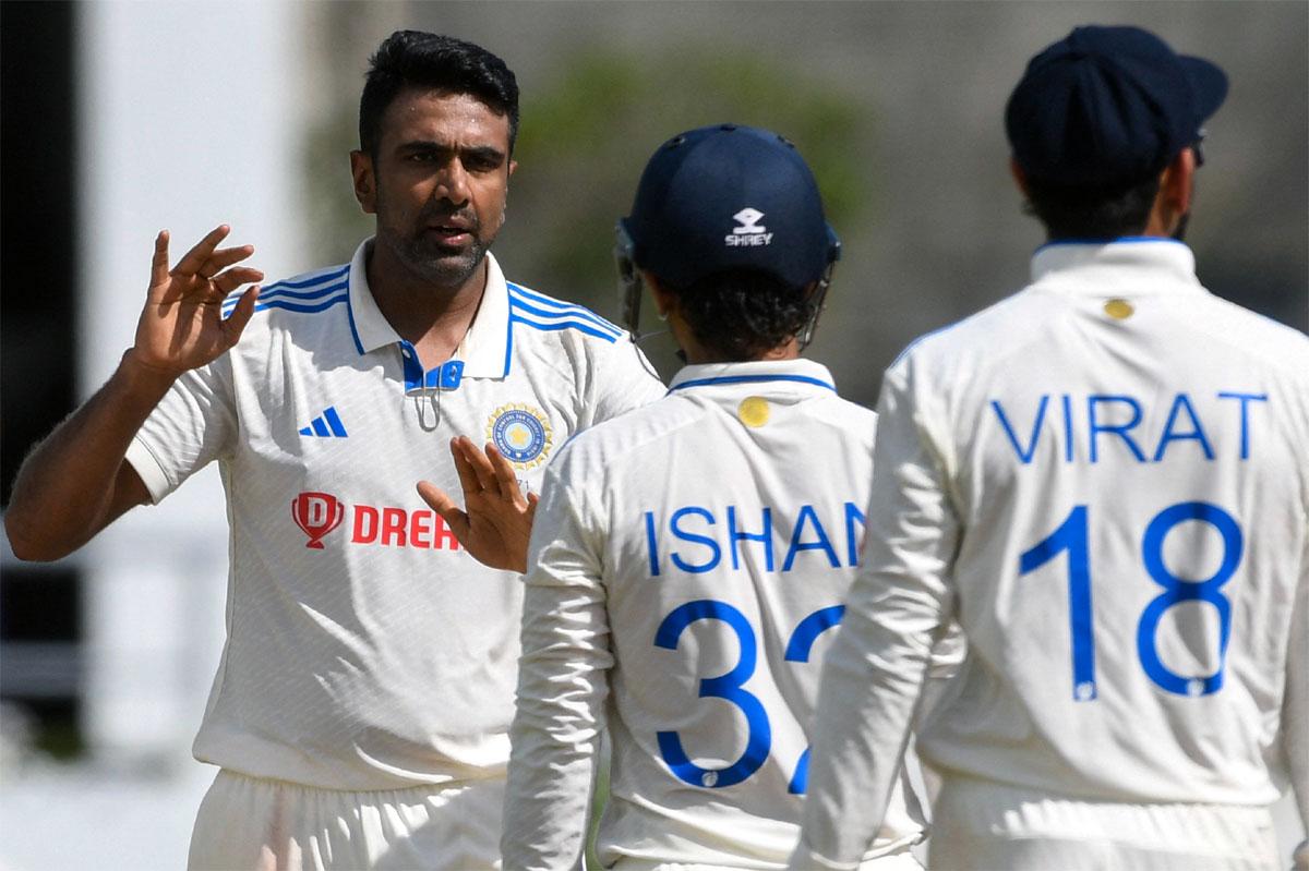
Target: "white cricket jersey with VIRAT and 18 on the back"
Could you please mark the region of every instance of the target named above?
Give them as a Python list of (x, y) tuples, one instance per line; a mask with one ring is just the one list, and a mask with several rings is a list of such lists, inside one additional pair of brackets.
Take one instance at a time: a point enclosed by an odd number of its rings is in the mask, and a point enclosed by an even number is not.
[(1263, 806), (1289, 762), (1309, 802), (1309, 340), (1194, 269), (1173, 241), (1050, 245), (888, 370), (796, 867), (872, 837), (952, 615), (969, 655), (918, 736), (946, 774)]

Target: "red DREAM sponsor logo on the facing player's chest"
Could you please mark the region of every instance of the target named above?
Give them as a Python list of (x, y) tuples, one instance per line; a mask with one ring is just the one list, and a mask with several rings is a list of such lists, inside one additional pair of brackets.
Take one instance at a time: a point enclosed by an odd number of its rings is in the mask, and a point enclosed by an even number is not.
[(291, 501), (291, 518), (309, 536), (306, 548), (323, 549), (323, 539), (346, 519), (346, 509), (352, 517), (350, 544), (378, 547), (408, 547), (425, 551), (458, 551), (459, 540), (445, 526), (436, 511), (384, 505), (351, 505), (331, 493), (309, 490)]

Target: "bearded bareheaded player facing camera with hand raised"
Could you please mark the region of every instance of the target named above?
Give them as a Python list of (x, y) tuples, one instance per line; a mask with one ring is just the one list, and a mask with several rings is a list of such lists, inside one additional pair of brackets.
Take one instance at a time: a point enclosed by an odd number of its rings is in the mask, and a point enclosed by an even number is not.
[(517, 118), (491, 52), (391, 35), (351, 154), (376, 237), (224, 301), (260, 277), (233, 267), (250, 248), (220, 228), (169, 271), (161, 234), (135, 345), (20, 473), (8, 534), (48, 560), (220, 464), (228, 640), (195, 756), (221, 770), (192, 868), (499, 867), (522, 587), (414, 484), (454, 485), (446, 442), (476, 432), (537, 490), (571, 434), (664, 394), (620, 328), (487, 252)]

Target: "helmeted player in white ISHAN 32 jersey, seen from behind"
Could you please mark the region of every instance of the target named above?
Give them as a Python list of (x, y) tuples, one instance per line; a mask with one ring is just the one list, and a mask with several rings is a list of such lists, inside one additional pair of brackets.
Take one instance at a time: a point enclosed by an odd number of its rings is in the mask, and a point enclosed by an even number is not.
[[(619, 239), (634, 332), (644, 282), (689, 365), (546, 471), (505, 867), (579, 867), (607, 725), (605, 867), (780, 868), (872, 472), (874, 415), (800, 358), (839, 246), (796, 148), (733, 124), (658, 148)], [(897, 790), (860, 858), (922, 833)]]

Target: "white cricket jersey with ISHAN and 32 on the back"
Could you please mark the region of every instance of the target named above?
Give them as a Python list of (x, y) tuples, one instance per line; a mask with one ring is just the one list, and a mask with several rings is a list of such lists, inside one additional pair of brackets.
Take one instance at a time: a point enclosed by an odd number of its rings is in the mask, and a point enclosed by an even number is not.
[[(602, 864), (783, 866), (874, 420), (814, 362), (696, 365), (559, 453), (529, 552), (505, 868), (576, 867), (606, 722)], [(897, 795), (868, 857), (920, 833)]]

